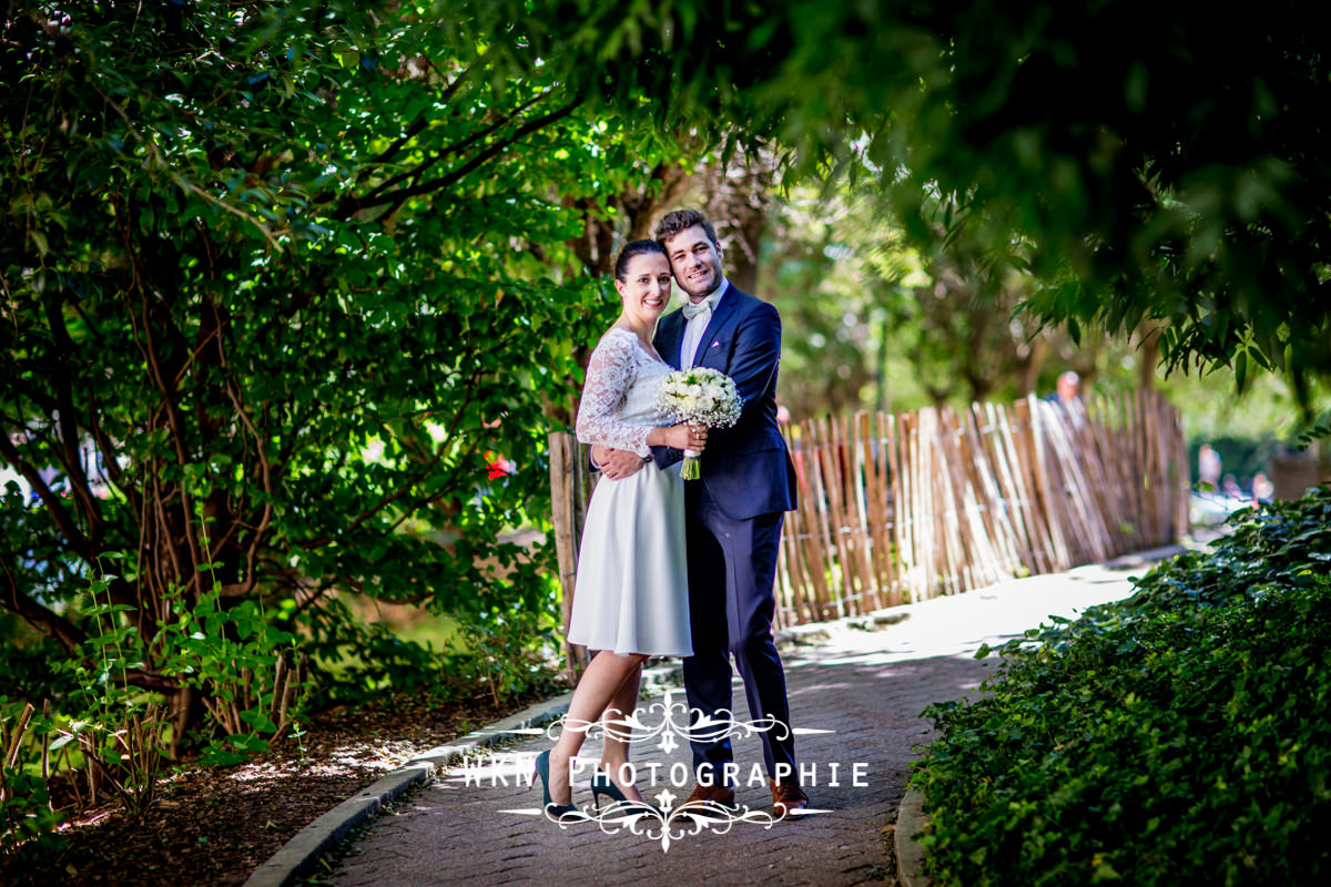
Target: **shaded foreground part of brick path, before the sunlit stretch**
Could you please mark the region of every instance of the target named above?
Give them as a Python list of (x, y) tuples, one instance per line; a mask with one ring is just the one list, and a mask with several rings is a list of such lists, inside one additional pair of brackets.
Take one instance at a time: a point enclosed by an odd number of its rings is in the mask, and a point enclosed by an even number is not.
[[(607, 834), (594, 822), (562, 828), (535, 815), (539, 783), (527, 789), (532, 757), (550, 746), (544, 737), (496, 753), (491, 773), (471, 785), (462, 769), (399, 805), (359, 842), (333, 875), (345, 887), (369, 884), (595, 884), (643, 879), (646, 883), (695, 884), (861, 884), (881, 883), (888, 864), (881, 828), (905, 791), (916, 746), (928, 739), (920, 718), (930, 702), (968, 693), (989, 673), (970, 657), (932, 657), (882, 662), (873, 654), (837, 654), (821, 664), (823, 650), (787, 654), (792, 719), (801, 731), (796, 749), (813, 806), (827, 813), (771, 826), (717, 824), (700, 834), (680, 827), (663, 848), (660, 826), (648, 834)], [(672, 697), (683, 705), (683, 694)], [(748, 718), (736, 685), (736, 719)], [(654, 701), (644, 701), (644, 706)], [(655, 702), (662, 702), (660, 698)], [(656, 725), (662, 715), (644, 714)], [(740, 765), (736, 801), (755, 811), (771, 810), (756, 735), (737, 737)], [(599, 754), (588, 741), (587, 755)], [(635, 743), (644, 765), (639, 787), (650, 799), (669, 791), (679, 803), (692, 789), (687, 745), (668, 754)], [(652, 777), (646, 765), (659, 763)], [(755, 763), (757, 767), (755, 767)], [(575, 801), (590, 802), (587, 769)], [(673, 769), (671, 767), (673, 766)], [(753, 770), (759, 770), (753, 773)], [(507, 783), (507, 785), (503, 785)], [(516, 783), (516, 785), (515, 785)], [(680, 785), (683, 783), (683, 785)]]

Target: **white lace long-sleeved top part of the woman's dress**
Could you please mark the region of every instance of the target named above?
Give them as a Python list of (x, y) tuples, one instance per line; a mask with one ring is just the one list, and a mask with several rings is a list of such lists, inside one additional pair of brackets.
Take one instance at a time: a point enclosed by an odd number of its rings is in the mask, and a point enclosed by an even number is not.
[(587, 364), (587, 384), (578, 404), (578, 440), (651, 455), (647, 435), (672, 424), (655, 404), (656, 388), (669, 366), (651, 354), (628, 330), (611, 327)]

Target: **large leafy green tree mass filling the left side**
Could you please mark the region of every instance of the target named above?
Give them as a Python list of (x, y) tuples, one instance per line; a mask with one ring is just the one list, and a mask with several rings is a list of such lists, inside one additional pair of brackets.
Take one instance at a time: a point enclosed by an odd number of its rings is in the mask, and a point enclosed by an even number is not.
[[(574, 247), (652, 193), (667, 142), (590, 118), (576, 84), (507, 76), (511, 47), (461, 24), (5, 7), (0, 463), (21, 483), (0, 598), (52, 658), (110, 630), (95, 605), (132, 629), (144, 656), (113, 677), (170, 697), (176, 742), (228, 681), (186, 678), (157, 638), (213, 592), (315, 665), (358, 656), (365, 689), (434, 682), (439, 660), (338, 592), (548, 630), (552, 585), (503, 532), (546, 513), (546, 416), (614, 310)], [(39, 668), (19, 693), (59, 685)]]

